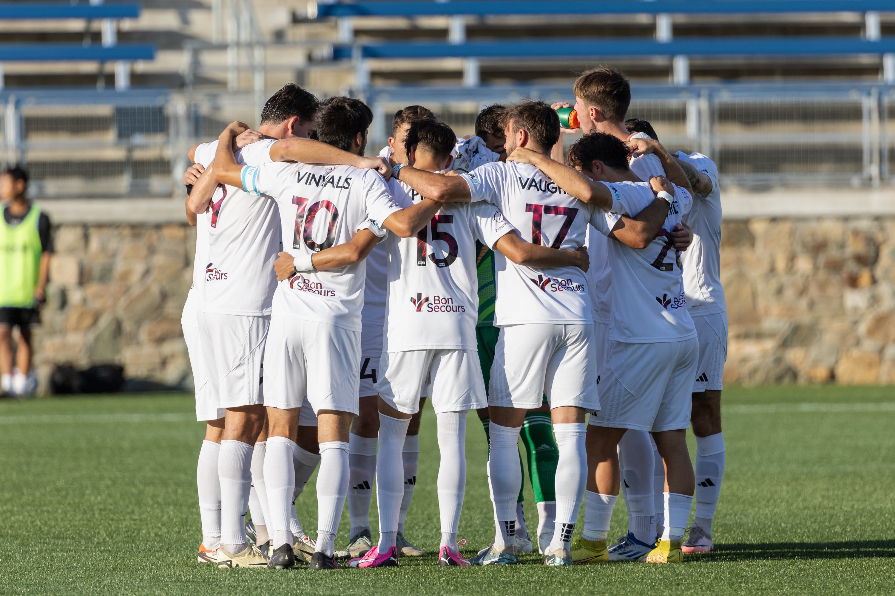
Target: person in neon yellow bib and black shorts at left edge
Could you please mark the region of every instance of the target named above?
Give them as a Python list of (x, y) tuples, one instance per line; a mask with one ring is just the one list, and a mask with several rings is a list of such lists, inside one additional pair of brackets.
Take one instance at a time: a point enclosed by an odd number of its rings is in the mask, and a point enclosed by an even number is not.
[[(40, 323), (53, 254), (50, 220), (25, 197), (27, 190), (28, 174), (19, 166), (0, 175), (0, 198), (6, 203), (0, 221), (0, 394), (17, 398), (38, 388), (31, 371), (31, 327)], [(13, 327), (19, 328), (18, 370), (13, 370)]]

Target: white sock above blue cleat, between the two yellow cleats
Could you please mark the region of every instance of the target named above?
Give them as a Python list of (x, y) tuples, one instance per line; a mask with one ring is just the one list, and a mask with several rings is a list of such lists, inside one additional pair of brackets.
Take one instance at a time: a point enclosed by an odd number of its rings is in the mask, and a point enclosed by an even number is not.
[(656, 540), (655, 497), (652, 476), (655, 472), (650, 433), (626, 431), (618, 441), (618, 467), (627, 506), (627, 530), (647, 544)]

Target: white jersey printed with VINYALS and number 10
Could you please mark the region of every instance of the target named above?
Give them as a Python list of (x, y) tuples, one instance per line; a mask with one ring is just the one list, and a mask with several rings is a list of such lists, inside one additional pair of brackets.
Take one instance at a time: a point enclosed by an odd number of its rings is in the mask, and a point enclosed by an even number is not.
[[(263, 164), (243, 168), (243, 185), (276, 198), (283, 249), (294, 256), (345, 244), (359, 230), (381, 238), (382, 222), (400, 211), (379, 172), (350, 165)], [(273, 313), (359, 332), (366, 267), (296, 273), (277, 284)]]

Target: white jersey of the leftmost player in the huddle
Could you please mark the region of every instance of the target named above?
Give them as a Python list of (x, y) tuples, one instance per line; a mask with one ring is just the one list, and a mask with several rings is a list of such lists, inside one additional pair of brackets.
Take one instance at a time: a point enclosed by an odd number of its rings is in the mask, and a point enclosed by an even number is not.
[[(261, 140), (236, 152), (240, 164), (270, 161), (273, 139)], [(196, 163), (214, 161), (217, 141), (196, 147)], [(253, 197), (243, 189), (218, 185), (209, 206), (209, 252), (202, 271), (202, 312), (221, 315), (269, 315), (280, 250), (277, 204), (270, 197)]]

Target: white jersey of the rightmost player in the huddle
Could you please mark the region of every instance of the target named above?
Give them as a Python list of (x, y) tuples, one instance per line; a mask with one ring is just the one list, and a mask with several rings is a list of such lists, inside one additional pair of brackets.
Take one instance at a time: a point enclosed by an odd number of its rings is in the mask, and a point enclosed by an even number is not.
[(678, 151), (677, 156), (712, 179), (712, 192), (704, 197), (693, 197), (693, 208), (684, 217), (684, 223), (693, 230), (693, 241), (681, 257), (686, 307), (691, 316), (726, 312), (727, 302), (724, 288), (721, 287), (721, 190), (718, 166), (701, 153), (686, 155)]

